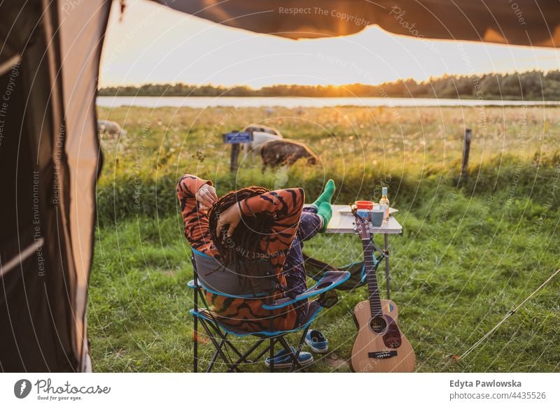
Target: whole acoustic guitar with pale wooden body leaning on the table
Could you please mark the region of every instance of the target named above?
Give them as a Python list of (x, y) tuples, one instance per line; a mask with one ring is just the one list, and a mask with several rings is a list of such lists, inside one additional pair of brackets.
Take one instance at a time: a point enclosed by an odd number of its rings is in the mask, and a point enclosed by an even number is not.
[(408, 339), (398, 327), (398, 308), (393, 301), (379, 298), (370, 221), (356, 215), (356, 231), (363, 245), (369, 298), (354, 307), (358, 336), (352, 347), (352, 370), (412, 372), (416, 357)]

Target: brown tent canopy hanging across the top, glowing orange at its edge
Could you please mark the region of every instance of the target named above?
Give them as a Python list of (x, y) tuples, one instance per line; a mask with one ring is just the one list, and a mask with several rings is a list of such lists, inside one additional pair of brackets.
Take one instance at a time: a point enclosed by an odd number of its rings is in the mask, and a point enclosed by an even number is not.
[(557, 47), (557, 0), (158, 0), (197, 17), (287, 38), (356, 34), (378, 25), (416, 38)]

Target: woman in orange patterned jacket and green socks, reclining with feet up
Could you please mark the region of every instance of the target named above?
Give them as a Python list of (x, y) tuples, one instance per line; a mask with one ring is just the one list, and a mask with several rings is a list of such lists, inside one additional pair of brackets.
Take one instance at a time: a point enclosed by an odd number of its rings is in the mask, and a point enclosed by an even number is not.
[[(218, 199), (211, 181), (184, 175), (177, 186), (185, 236), (191, 247), (228, 263), (246, 265), (266, 258), (272, 264), (277, 285), (275, 298), (295, 297), (307, 290), (302, 242), (324, 231), (332, 216), (330, 201), (335, 183), (329, 180), (320, 197), (304, 208), (302, 188), (268, 191), (248, 187)], [(209, 308), (223, 322), (244, 331), (271, 328), (270, 311), (261, 299), (231, 299), (206, 292)], [(274, 313), (272, 328), (300, 326), (307, 301)]]

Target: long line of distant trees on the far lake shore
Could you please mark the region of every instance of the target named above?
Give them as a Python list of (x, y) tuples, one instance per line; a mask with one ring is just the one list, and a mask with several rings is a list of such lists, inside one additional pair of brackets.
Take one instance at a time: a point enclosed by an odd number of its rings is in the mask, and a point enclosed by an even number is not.
[(417, 82), (396, 80), (380, 85), (273, 85), (260, 89), (248, 86), (223, 87), (186, 83), (146, 83), (139, 86), (111, 86), (100, 96), (156, 97), (428, 97), (560, 100), (560, 71), (444, 75)]

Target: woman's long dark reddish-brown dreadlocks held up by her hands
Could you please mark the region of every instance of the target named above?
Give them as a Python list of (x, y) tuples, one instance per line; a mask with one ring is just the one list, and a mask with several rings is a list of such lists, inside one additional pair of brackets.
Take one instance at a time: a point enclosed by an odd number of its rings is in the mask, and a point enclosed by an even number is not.
[(269, 234), (274, 224), (274, 217), (268, 213), (241, 216), (241, 221), (234, 229), (232, 236), (227, 236), (228, 225), (216, 231), (218, 217), (226, 209), (238, 202), (268, 192), (262, 187), (247, 187), (231, 191), (214, 202), (208, 210), (209, 228), (212, 241), (226, 265), (237, 266), (237, 271), (244, 276), (251, 276), (251, 268), (255, 262), (265, 255), (260, 249), (263, 234)]

